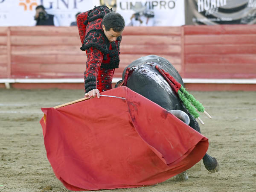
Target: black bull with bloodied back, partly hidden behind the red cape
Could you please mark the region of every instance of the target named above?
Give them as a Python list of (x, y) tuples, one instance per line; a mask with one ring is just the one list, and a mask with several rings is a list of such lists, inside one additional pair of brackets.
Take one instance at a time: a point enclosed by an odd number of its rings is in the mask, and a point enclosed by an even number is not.
[[(132, 70), (132, 73), (128, 76), (126, 86), (152, 102), (157, 103), (167, 111), (173, 109), (184, 111), (189, 116), (189, 126), (201, 133), (198, 122), (195, 120), (194, 116), (187, 111), (183, 103), (180, 102), (175, 91), (172, 90), (161, 73), (155, 68), (156, 65), (159, 65), (161, 69), (169, 73), (184, 87), (180, 74), (172, 64), (165, 58), (157, 55), (141, 57), (129, 64), (128, 67)], [(126, 68), (122, 74), (122, 79), (125, 77)], [(214, 157), (206, 153), (203, 157), (203, 162), (209, 172), (218, 171), (219, 165)]]

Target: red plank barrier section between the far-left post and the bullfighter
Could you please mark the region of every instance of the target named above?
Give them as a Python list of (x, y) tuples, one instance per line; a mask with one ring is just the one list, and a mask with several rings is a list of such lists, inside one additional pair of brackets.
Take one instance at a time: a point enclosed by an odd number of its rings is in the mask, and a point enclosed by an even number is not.
[(10, 27), (12, 78), (82, 78), (77, 27)]

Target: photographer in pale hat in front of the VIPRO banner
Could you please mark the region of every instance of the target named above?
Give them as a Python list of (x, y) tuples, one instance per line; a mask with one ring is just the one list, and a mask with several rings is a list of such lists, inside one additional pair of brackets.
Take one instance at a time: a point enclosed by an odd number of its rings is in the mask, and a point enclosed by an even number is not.
[(132, 7), (135, 12), (127, 26), (154, 26), (154, 12), (146, 11), (146, 6), (141, 2), (136, 2)]

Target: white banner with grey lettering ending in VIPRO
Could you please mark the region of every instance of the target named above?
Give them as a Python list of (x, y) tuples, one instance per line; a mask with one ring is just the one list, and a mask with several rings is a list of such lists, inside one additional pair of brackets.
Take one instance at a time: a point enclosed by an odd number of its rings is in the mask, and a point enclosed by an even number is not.
[[(116, 0), (116, 12), (124, 17), (126, 25), (131, 23), (131, 16), (135, 13), (132, 6), (135, 6), (136, 2), (141, 2), (146, 7), (145, 12), (154, 13), (154, 17), (145, 19), (145, 22), (150, 23), (147, 26), (182, 26), (185, 24), (184, 0)], [(141, 22), (144, 20), (141, 19)]]

